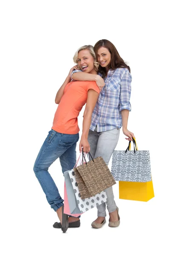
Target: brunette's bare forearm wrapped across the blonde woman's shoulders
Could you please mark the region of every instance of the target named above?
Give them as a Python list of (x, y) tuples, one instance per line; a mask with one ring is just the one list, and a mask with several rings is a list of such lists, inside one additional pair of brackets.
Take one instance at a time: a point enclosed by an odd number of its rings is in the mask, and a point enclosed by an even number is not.
[(100, 90), (105, 86), (105, 81), (99, 75), (89, 74), (85, 72), (76, 72), (71, 76), (76, 81), (96, 81), (97, 86)]

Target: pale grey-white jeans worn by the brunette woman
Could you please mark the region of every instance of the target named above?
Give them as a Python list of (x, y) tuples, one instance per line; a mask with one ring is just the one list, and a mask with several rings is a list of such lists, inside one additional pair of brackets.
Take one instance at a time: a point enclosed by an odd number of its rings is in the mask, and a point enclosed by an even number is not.
[[(108, 165), (109, 160), (111, 159), (113, 150), (116, 148), (116, 145), (119, 140), (120, 129), (116, 128), (109, 131), (97, 132), (96, 128), (94, 131), (89, 131), (88, 142), (90, 144), (91, 156), (93, 158), (102, 157), (105, 163)], [(108, 212), (114, 212), (116, 210), (116, 203), (114, 201), (113, 189), (112, 186), (105, 190), (107, 195), (106, 203), (100, 204), (97, 206), (98, 212), (97, 216), (105, 217), (106, 216), (106, 204)]]

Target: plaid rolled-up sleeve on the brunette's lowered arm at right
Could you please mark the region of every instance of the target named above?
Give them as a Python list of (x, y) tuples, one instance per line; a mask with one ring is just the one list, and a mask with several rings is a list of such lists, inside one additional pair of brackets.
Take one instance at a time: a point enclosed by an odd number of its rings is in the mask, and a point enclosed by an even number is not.
[(130, 105), (131, 81), (132, 81), (132, 76), (130, 72), (126, 70), (125, 74), (121, 79), (121, 84), (120, 84), (121, 91), (120, 91), (119, 111), (122, 111), (123, 109), (127, 109), (128, 111), (131, 111), (131, 105)]

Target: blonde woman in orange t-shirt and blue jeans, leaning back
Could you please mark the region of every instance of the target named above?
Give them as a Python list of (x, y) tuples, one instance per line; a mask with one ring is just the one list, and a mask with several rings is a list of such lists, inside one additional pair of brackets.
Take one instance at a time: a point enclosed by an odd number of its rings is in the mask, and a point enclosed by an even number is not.
[[(96, 61), (94, 49), (91, 45), (79, 48), (74, 55), (79, 70), (97, 75), (99, 64)], [(88, 132), (91, 125), (91, 116), (99, 96), (99, 87), (95, 81), (71, 81), (70, 70), (67, 78), (59, 88), (55, 102), (58, 104), (54, 115), (53, 125), (49, 131), (37, 159), (34, 163), (34, 173), (46, 195), (51, 208), (57, 212), (60, 223), (54, 227), (61, 228), (65, 233), (67, 228), (79, 227), (79, 218), (68, 217), (63, 213), (63, 199), (59, 195), (56, 184), (48, 172), (51, 164), (59, 158), (62, 172), (73, 169), (76, 163), (76, 144), (79, 140), (79, 126), (77, 117), (86, 103), (83, 114), (83, 129), (79, 143), (85, 152), (90, 151)], [(99, 81), (101, 81), (99, 79)], [(60, 182), (60, 181), (58, 181)], [(63, 182), (63, 180), (62, 180)]]

